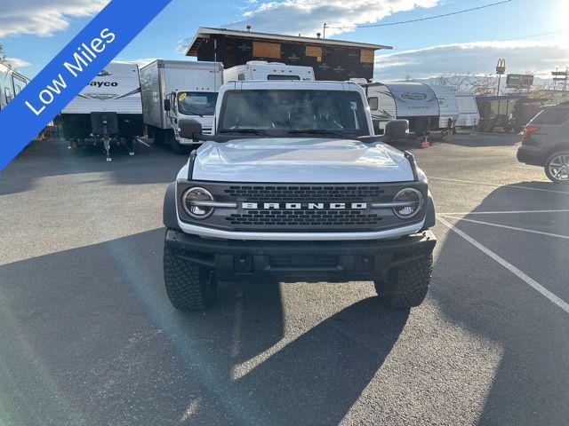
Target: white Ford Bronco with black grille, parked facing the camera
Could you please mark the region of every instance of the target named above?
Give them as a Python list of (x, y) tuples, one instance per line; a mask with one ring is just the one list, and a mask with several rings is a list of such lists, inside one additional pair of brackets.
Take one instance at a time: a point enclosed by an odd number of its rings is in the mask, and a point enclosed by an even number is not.
[(201, 310), (219, 280), (362, 281), (408, 308), (429, 289), (436, 239), (427, 177), (413, 155), (375, 137), (356, 83), (232, 82), (211, 135), (164, 198), (164, 281), (172, 304)]

